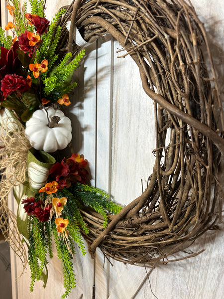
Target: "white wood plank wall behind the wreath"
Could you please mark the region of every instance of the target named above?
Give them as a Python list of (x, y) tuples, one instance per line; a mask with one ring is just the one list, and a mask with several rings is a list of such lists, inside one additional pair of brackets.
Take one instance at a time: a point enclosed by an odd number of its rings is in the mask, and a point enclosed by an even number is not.
[[(69, 0), (48, 0), (47, 17)], [(209, 32), (215, 64), (224, 82), (224, 5), (223, 0), (192, 0)], [(2, 26), (5, 1), (1, 0)], [(73, 149), (89, 160), (91, 183), (109, 191), (114, 199), (126, 205), (141, 193), (152, 172), (154, 157), (153, 103), (144, 94), (138, 69), (129, 57), (117, 59), (118, 43), (110, 36), (87, 47), (86, 56), (76, 72), (78, 87), (68, 116), (73, 123)], [(222, 85), (222, 84), (221, 84)], [(13, 205), (11, 199), (11, 205)], [(15, 209), (16, 207), (14, 207)], [(221, 299), (224, 293), (223, 231), (211, 231), (189, 249), (201, 255), (157, 267), (150, 274), (151, 288), (158, 299)], [(94, 261), (79, 249), (74, 261), (77, 287), (71, 299), (151, 299), (146, 270), (111, 260), (99, 250)], [(13, 299), (60, 299), (63, 274), (55, 257), (48, 265), (49, 280), (45, 290), (37, 282), (29, 293), (29, 271), (15, 282), (21, 265), (11, 255)], [(142, 287), (139, 289), (139, 286)]]

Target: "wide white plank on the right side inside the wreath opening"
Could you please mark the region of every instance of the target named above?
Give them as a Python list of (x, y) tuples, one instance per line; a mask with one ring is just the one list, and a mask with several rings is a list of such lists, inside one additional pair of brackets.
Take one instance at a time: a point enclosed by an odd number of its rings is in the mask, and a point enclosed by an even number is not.
[[(114, 53), (120, 49), (115, 43)], [(120, 53), (119, 53), (120, 54)], [(130, 57), (114, 55), (112, 195), (128, 204), (146, 187), (152, 173), (155, 148), (154, 110), (139, 79), (139, 70)]]

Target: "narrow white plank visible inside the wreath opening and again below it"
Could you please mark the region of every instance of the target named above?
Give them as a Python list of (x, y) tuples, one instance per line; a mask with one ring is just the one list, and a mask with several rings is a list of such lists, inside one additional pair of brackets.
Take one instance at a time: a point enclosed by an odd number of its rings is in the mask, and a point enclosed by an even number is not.
[[(110, 193), (112, 142), (112, 37), (97, 41), (97, 123), (96, 186)], [(107, 298), (109, 292), (108, 260), (96, 251), (96, 298)]]

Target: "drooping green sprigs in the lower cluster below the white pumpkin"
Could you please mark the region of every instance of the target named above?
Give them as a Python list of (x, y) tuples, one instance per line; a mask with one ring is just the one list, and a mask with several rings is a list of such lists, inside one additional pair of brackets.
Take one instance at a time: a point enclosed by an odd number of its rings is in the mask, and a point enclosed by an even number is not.
[[(104, 217), (103, 226), (108, 224), (108, 213), (117, 214), (121, 207), (109, 200), (110, 196), (107, 192), (85, 184), (74, 183), (69, 188), (63, 188), (57, 191), (57, 196), (66, 196), (67, 204), (64, 206), (63, 217), (69, 220), (67, 233), (58, 233), (55, 226), (55, 216), (52, 213), (50, 221), (40, 222), (36, 217), (29, 217), (29, 250), (28, 259), (31, 271), (30, 291), (36, 280), (41, 279), (41, 275), (48, 263), (47, 253), (50, 258), (52, 254), (52, 236), (56, 244), (58, 258), (62, 261), (64, 274), (65, 293), (62, 299), (65, 299), (76, 285), (75, 274), (72, 259), (75, 255), (74, 243), (76, 242), (82, 255), (86, 255), (86, 248), (82, 239), (81, 231), (85, 234), (89, 233), (87, 224), (84, 222), (80, 213), (80, 209), (85, 206), (92, 207), (96, 212)], [(37, 194), (38, 200), (47, 201), (47, 194)]]

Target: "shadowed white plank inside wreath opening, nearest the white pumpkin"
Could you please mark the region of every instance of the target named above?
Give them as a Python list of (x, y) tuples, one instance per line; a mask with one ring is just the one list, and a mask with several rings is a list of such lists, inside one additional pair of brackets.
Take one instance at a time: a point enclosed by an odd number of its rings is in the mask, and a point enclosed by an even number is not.
[[(84, 155), (89, 161), (90, 183), (95, 186), (96, 163), (96, 43), (86, 48), (86, 55), (74, 80), (74, 90), (69, 117), (73, 123), (73, 152)], [(84, 101), (85, 99), (85, 101)]]

